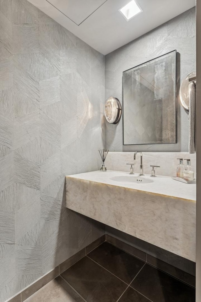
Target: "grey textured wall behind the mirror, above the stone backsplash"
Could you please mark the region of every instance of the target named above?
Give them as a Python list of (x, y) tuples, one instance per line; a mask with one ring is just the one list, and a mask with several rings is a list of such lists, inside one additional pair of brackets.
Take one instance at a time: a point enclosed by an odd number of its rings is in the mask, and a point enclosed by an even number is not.
[[(122, 72), (162, 54), (177, 50), (177, 95), (182, 79), (196, 70), (195, 8), (150, 31), (144, 36), (106, 55), (105, 98), (122, 102)], [(133, 29), (135, 30), (135, 29)], [(106, 148), (110, 151), (188, 151), (188, 113), (177, 98), (177, 144), (123, 146), (122, 119), (117, 125), (106, 123)], [(134, 131), (134, 130), (133, 130)]]

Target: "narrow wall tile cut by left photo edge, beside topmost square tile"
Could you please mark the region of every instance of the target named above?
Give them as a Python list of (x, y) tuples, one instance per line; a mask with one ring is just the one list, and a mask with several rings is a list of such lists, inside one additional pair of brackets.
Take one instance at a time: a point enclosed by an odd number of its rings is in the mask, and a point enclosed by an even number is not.
[[(5, 11), (5, 10), (4, 10)], [(0, 11), (0, 42), (9, 53), (13, 53), (12, 23)]]

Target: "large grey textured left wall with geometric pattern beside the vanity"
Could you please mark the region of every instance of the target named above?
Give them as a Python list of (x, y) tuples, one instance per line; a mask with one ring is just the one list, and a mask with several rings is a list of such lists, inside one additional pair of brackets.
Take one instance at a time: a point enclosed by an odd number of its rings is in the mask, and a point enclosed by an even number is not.
[(65, 208), (97, 170), (104, 56), (26, 0), (0, 0), (0, 302), (104, 233)]

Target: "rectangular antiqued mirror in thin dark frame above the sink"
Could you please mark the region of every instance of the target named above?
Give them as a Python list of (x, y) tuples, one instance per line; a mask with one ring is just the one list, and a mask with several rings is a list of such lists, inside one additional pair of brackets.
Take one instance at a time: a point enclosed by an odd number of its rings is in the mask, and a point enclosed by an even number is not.
[(176, 143), (176, 50), (123, 72), (123, 144)]

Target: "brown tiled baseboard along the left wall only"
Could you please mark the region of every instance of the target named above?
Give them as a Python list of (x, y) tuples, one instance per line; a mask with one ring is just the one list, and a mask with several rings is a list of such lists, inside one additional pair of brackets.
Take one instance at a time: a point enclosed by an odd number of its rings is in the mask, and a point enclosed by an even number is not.
[(67, 260), (62, 262), (60, 265), (55, 267), (52, 271), (50, 271), (49, 273), (47, 273), (40, 279), (36, 280), (34, 283), (32, 283), (27, 288), (23, 289), (20, 293), (15, 295), (13, 298), (7, 300), (7, 302), (24, 302), (27, 298), (29, 298), (31, 295), (33, 295), (35, 292), (37, 292), (39, 289), (41, 289), (48, 282), (52, 281), (54, 278), (59, 276), (60, 273), (67, 270), (70, 266), (72, 266), (74, 263), (79, 261), (90, 251), (92, 251), (93, 249), (98, 247), (105, 240), (106, 240), (106, 235), (103, 235), (100, 238), (96, 239), (94, 242), (87, 245), (84, 249), (80, 250), (79, 252), (74, 254), (72, 257), (68, 258)]

